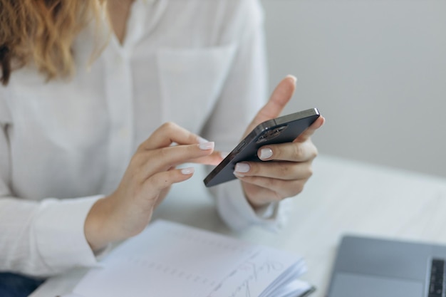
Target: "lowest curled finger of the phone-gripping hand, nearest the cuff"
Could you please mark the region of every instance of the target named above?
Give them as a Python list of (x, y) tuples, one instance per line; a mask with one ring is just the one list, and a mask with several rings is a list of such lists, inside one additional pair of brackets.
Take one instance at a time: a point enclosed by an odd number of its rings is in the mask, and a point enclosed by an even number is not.
[(282, 180), (266, 177), (243, 177), (245, 192), (255, 199), (249, 199), (253, 204), (280, 202), (282, 199), (294, 197), (304, 190), (306, 180)]

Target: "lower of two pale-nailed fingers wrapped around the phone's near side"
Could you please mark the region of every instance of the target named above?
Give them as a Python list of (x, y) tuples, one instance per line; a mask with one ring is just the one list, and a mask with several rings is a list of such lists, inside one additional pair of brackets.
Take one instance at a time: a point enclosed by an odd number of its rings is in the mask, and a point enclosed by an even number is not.
[(266, 177), (270, 179), (308, 179), (313, 174), (311, 162), (239, 162), (236, 177)]

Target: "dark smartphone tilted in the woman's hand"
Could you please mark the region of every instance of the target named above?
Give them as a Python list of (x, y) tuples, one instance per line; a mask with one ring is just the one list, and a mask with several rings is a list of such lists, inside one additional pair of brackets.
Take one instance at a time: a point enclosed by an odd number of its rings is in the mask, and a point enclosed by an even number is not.
[[(261, 161), (257, 150), (264, 145), (292, 142), (301, 135), (307, 127), (319, 118), (317, 108), (291, 113), (273, 120), (267, 120), (257, 125), (217, 167), (210, 172), (203, 182), (206, 187), (212, 187), (222, 182), (229, 182), (236, 177), (234, 167), (242, 161)], [(265, 161), (261, 161), (265, 162)]]

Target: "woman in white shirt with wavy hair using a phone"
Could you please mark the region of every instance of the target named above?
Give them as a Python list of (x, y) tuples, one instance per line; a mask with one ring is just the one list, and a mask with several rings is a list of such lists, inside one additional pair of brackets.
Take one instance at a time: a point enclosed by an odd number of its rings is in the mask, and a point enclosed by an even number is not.
[[(256, 0), (0, 0), (0, 271), (93, 266), (190, 179), (178, 165), (217, 165), (214, 143), (229, 152), (278, 116), (296, 80), (262, 108), (262, 21)], [(281, 200), (311, 176), (322, 124), (212, 188), (229, 226), (276, 228)]]

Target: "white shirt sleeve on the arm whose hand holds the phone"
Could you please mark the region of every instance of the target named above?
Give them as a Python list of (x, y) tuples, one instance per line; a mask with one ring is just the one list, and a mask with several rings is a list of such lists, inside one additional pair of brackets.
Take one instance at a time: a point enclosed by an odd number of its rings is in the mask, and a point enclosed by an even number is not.
[[(223, 152), (230, 152), (237, 145), (244, 129), (266, 102), (268, 89), (263, 10), (256, 0), (239, 3), (232, 21), (227, 21), (234, 24), (227, 31), (237, 36), (237, 53), (221, 98), (203, 132)], [(232, 229), (260, 225), (276, 230), (284, 223), (283, 203), (254, 212), (239, 181), (212, 187), (211, 192), (217, 199), (220, 216)]]

